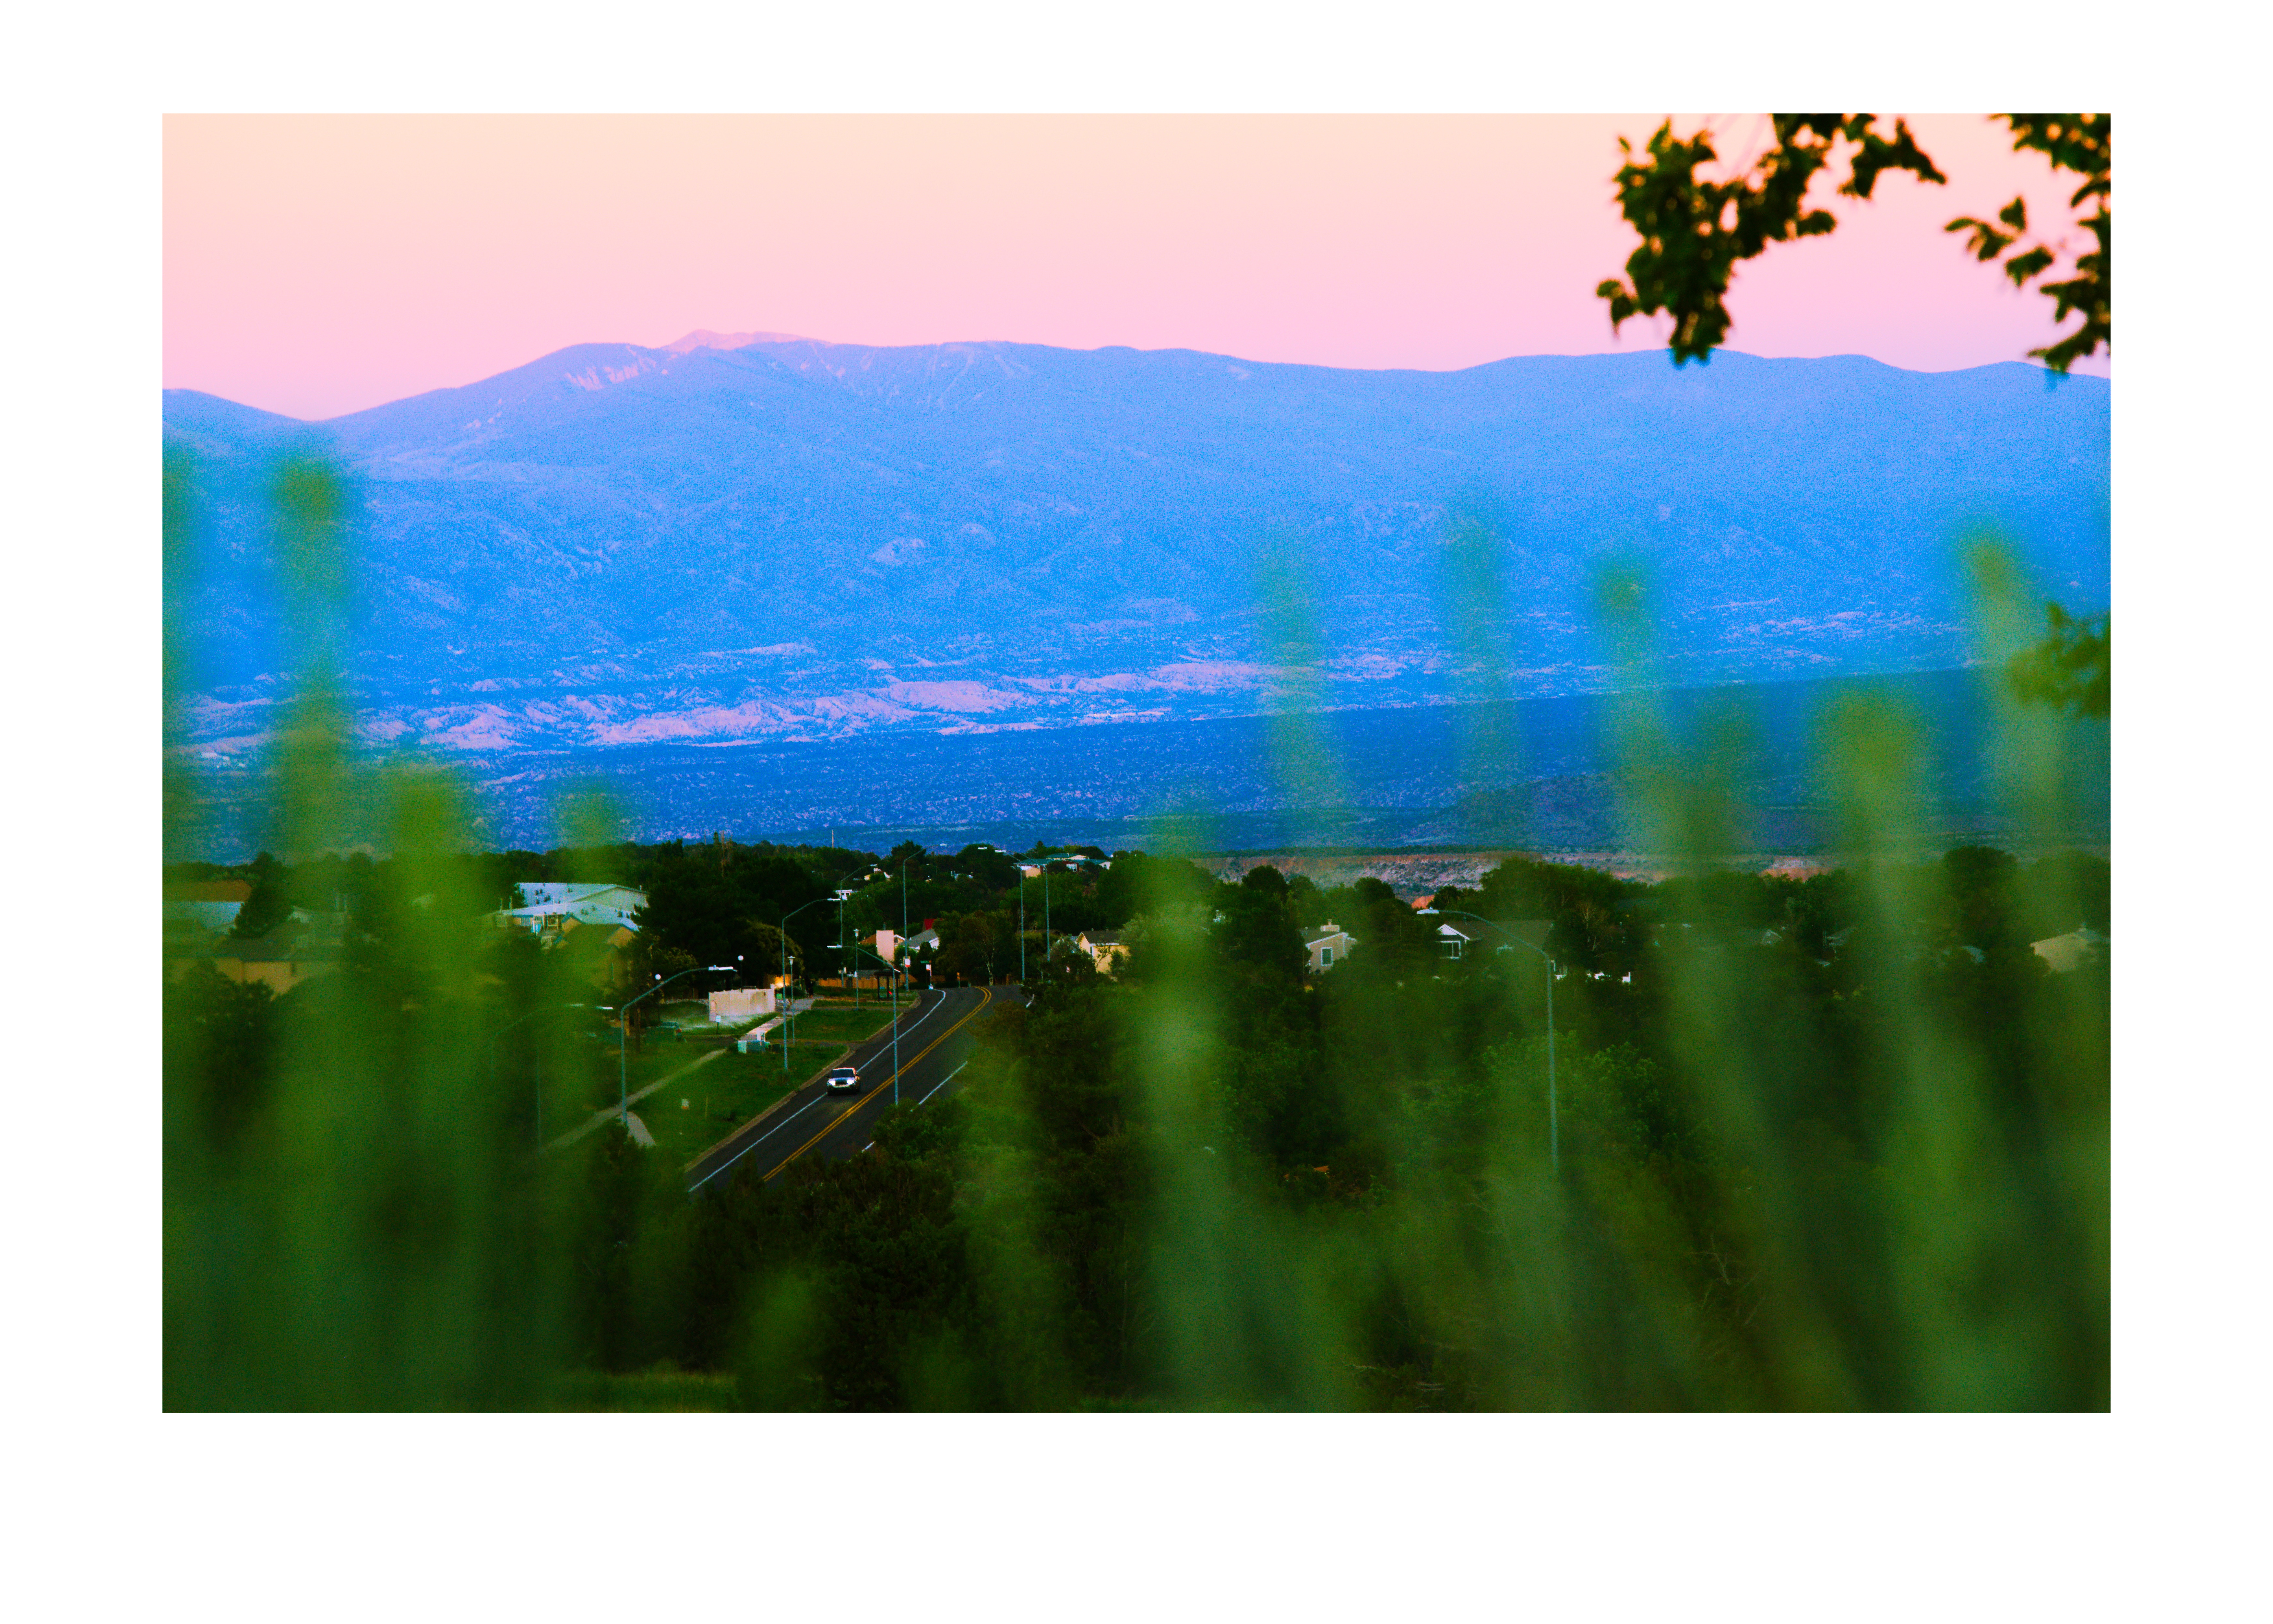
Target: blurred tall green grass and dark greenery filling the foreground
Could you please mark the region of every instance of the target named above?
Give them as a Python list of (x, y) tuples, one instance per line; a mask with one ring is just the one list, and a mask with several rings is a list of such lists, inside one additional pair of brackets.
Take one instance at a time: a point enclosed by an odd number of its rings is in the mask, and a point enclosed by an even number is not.
[[(471, 927), (493, 899), (461, 861), (461, 793), (350, 747), (352, 488), (289, 463), (275, 513), (298, 690), (273, 849), (336, 849), (345, 809), (391, 840), (359, 870), (336, 974), (277, 999), (168, 983), (168, 1408), (2109, 1401), (2109, 974), (2028, 949), (2091, 906), (2089, 870), (1921, 856), (1916, 718), (1852, 706), (1823, 731), (1841, 874), (1784, 893), (1727, 874), (1748, 849), (1743, 695), (1687, 731), (1657, 711), (1637, 570), (1600, 593), (1630, 811), (1684, 879), (1643, 895), (1509, 863), (1462, 902), (1548, 922), (1552, 1115), (1541, 956), (1446, 961), (1432, 922), (1357, 888), (1334, 906), (1362, 909), (1339, 920), (1359, 949), (1305, 974), (1316, 888), (1159, 861), (1127, 963), (1036, 965), (1032, 1006), (980, 1024), (957, 1097), (896, 1111), (852, 1161), (689, 1199), (680, 1095), (734, 1077), (755, 1106), (780, 1056), (723, 1056), (641, 1104), (671, 1124), (657, 1152), (614, 1129), (534, 1152), (539, 1122), (611, 1102), (611, 1036), (564, 1011), (605, 999), (561, 954), (500, 972)], [(200, 559), (182, 463), (166, 522), (175, 604)], [(1443, 559), (1484, 690), (1516, 663), (1466, 591), (1491, 525), (1464, 509)], [(1975, 561), (1998, 672), (2034, 611), (1993, 547)], [(1259, 591), (1268, 636), (1307, 661), (1296, 543)], [(180, 738), (173, 634), (168, 616)], [(1282, 697), (1277, 768), (1316, 788), (1334, 763), (1305, 693)], [(2023, 827), (2068, 827), (2068, 727), (1998, 711)], [(1480, 736), (1466, 756), (1507, 750)], [(168, 750), (168, 818), (195, 800)], [(1755, 902), (1782, 911), (1739, 918)], [(886, 1018), (800, 1020), (791, 1081)], [(648, 1033), (632, 1086), (698, 1054)]]

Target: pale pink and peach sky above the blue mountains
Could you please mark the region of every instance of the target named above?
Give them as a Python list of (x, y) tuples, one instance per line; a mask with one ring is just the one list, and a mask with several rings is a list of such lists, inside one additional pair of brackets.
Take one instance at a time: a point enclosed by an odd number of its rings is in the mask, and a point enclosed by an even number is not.
[[(1743, 152), (1762, 120), (1730, 118)], [(298, 418), (571, 343), (793, 332), (1462, 368), (1612, 338), (1632, 116), (168, 116), (166, 386)], [(2053, 334), (1939, 227), (2068, 186), (1982, 118), (1739, 273), (1730, 345), (1946, 370)], [(1823, 186), (1821, 191), (1830, 191)], [(2107, 370), (2098, 357), (2084, 370)]]

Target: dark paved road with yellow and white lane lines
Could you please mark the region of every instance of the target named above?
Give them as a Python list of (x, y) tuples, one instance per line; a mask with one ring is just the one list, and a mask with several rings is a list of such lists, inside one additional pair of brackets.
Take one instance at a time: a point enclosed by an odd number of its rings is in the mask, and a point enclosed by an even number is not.
[[(955, 1072), (971, 1058), (977, 1018), (1002, 999), (1018, 999), (1016, 986), (955, 988), (925, 993), (900, 1015), (900, 1104), (923, 1104), (955, 1093)], [(875, 1138), (875, 1120), (891, 1108), (891, 1029), (852, 1049), (861, 1093), (832, 1095), (821, 1079), (798, 1093), (686, 1170), (691, 1190), (718, 1188), (730, 1179), (773, 1179), (798, 1156), (841, 1161), (857, 1156)]]

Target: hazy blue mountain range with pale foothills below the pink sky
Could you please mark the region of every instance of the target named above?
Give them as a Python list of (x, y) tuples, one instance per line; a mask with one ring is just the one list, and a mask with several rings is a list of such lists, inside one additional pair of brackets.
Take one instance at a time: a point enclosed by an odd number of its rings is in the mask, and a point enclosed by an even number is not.
[[(1973, 525), (2048, 595), (2107, 600), (2109, 386), (2018, 363), (1357, 372), (696, 332), (320, 425), (168, 391), (166, 438), (211, 520), (189, 618), (216, 754), (264, 736), (284, 663), (259, 491), (289, 447), (361, 491), (366, 731), (441, 750), (1468, 697), (1459, 504), (1500, 531), (1516, 693), (1614, 679), (1589, 609), (1612, 554), (1655, 579), (1675, 681), (1959, 663)], [(1316, 636), (1291, 675), (1264, 593), (1287, 559)]]

